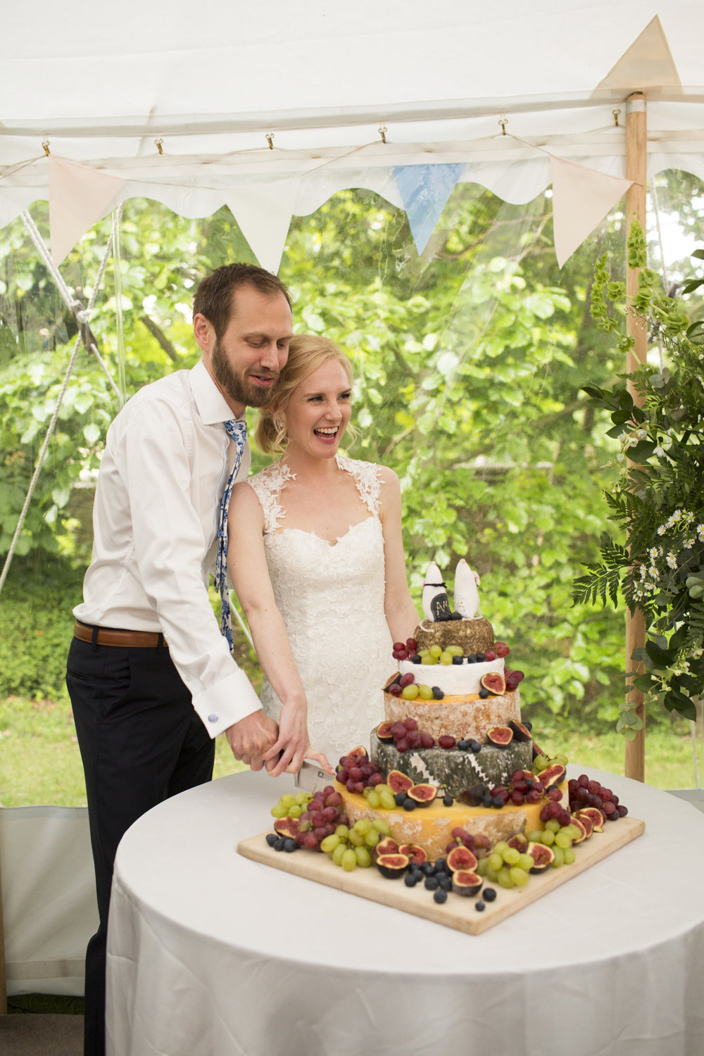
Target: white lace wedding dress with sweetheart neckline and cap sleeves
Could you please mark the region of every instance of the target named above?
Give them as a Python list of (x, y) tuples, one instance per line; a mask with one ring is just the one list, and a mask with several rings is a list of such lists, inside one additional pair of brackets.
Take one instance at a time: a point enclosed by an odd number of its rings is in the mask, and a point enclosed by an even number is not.
[[(337, 456), (369, 511), (335, 545), (285, 527), (280, 492), (294, 474), (283, 460), (249, 477), (264, 511), (264, 545), (277, 605), (308, 700), (313, 748), (332, 766), (383, 719), (381, 687), (393, 671), (384, 617), (381, 482), (373, 463)], [(264, 679), (262, 704), (278, 718), (281, 701)]]

